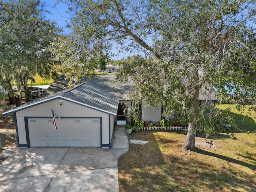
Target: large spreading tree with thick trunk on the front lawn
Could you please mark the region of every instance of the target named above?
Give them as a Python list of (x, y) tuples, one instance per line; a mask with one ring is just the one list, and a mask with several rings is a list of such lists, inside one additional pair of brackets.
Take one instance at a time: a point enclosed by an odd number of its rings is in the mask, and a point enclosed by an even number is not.
[[(255, 0), (70, 0), (68, 4), (73, 31), (54, 50), (58, 60), (71, 45), (64, 58), (69, 77), (76, 76), (77, 69), (92, 70), (94, 60), (111, 56), (114, 44), (125, 51), (144, 51), (144, 60), (121, 66), (118, 77), (131, 76), (138, 99), (152, 106), (162, 104), (166, 116), (183, 111), (180, 120), (189, 124), (185, 149), (194, 149), (200, 128), (208, 137), (220, 132), (218, 125), (234, 126), (228, 110), (214, 106), (211, 92), (238, 107), (255, 100)], [(206, 102), (200, 102), (200, 92)]]

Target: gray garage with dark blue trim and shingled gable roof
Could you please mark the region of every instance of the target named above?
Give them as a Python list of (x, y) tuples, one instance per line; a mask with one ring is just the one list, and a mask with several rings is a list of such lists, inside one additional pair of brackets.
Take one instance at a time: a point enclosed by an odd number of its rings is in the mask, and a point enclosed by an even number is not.
[[(3, 115), (14, 114), (19, 147), (110, 148), (118, 103), (113, 94), (86, 82)], [(56, 113), (58, 130), (51, 109)]]

